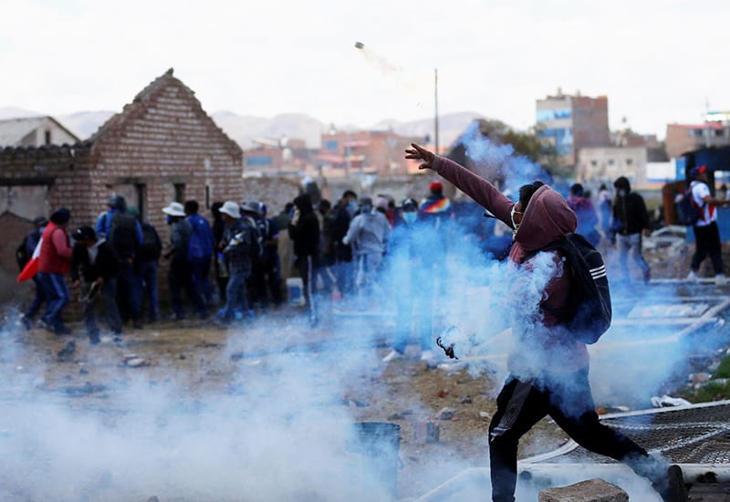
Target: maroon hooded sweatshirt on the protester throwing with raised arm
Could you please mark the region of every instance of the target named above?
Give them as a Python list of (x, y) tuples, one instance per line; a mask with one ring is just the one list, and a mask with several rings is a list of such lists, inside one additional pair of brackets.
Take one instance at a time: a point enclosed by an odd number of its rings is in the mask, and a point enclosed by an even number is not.
[[(513, 228), (510, 213), (515, 205), (495, 185), (468, 169), (444, 157), (436, 156), (433, 160), (433, 171), (469, 195), (474, 201)], [(541, 186), (533, 194), (522, 223), (517, 229), (515, 243), (509, 252), (511, 262), (522, 269), (530, 269), (526, 258), (534, 252), (563, 235), (575, 232), (577, 226), (575, 213), (565, 199), (549, 186)], [(561, 257), (556, 251), (550, 251), (556, 262)], [(562, 270), (562, 267), (559, 267)], [(511, 371), (520, 374), (525, 372), (578, 371), (589, 362), (586, 345), (575, 340), (570, 333), (560, 326), (559, 319), (550, 310), (559, 309), (568, 301), (570, 277), (568, 273), (556, 274), (547, 283), (545, 295), (539, 305), (540, 322), (529, 332), (514, 333), (518, 337), (513, 344), (507, 366)]]

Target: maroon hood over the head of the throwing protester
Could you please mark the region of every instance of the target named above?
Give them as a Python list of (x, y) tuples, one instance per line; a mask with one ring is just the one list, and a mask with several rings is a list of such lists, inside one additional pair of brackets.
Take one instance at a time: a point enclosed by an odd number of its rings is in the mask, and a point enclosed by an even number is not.
[(547, 185), (532, 195), (515, 235), (515, 242), (527, 251), (536, 251), (558, 237), (576, 231), (578, 220), (568, 203)]

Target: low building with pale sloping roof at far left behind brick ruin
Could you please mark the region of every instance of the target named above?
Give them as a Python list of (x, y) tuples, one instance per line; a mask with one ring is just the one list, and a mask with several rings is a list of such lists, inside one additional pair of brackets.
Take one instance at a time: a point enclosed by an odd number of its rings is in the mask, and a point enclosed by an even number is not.
[(53, 117), (0, 120), (0, 147), (40, 148), (80, 141)]

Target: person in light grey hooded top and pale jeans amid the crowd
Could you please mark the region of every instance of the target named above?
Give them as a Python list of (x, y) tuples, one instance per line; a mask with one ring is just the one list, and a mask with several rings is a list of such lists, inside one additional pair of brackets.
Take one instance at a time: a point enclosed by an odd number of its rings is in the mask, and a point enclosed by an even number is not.
[(355, 285), (360, 295), (369, 293), (377, 283), (383, 255), (388, 250), (391, 224), (380, 211), (373, 209), (372, 199), (360, 199), (360, 214), (349, 222), (348, 233), (342, 244), (352, 245), (357, 256), (358, 269)]

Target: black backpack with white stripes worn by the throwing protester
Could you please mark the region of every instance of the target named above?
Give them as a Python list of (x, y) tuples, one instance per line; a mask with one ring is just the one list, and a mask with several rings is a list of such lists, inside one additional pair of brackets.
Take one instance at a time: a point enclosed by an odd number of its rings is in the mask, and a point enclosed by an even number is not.
[(543, 306), (543, 309), (563, 320), (578, 340), (595, 343), (609, 329), (612, 315), (609, 277), (603, 257), (579, 234), (560, 237), (542, 248), (542, 251), (554, 250), (565, 256), (573, 280), (566, 307)]

